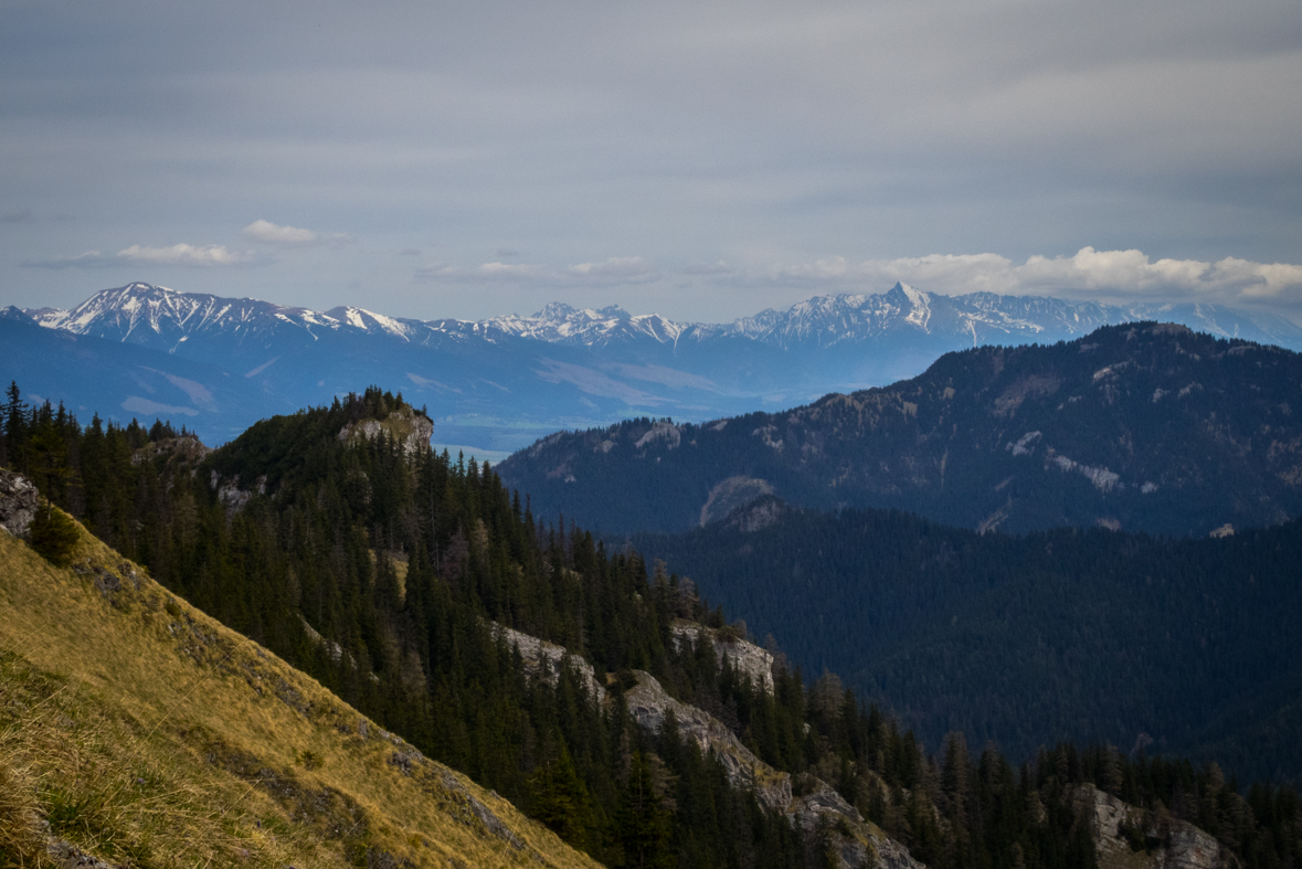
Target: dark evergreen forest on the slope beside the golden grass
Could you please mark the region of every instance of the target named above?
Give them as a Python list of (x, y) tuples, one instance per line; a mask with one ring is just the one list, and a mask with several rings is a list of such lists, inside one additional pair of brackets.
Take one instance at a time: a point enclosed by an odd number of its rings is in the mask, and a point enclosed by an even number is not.
[[(561, 516), (540, 522), (487, 464), (406, 455), (383, 434), (339, 438), (401, 406), (370, 389), (210, 454), (167, 423), (82, 427), (12, 386), (0, 462), (177, 593), (611, 865), (829, 860), (825, 830), (766, 814), (672, 723), (641, 732), (620, 699), (631, 669), (724, 721), (797, 790), (810, 775), (832, 783), (937, 869), (1091, 869), (1082, 782), (1144, 807), (1159, 835), (1169, 818), (1199, 823), (1249, 869), (1302, 857), (1288, 787), (1245, 791), (1213, 765), (1109, 747), (1062, 744), (1014, 765), (953, 734), (928, 755), (832, 674), (807, 683), (780, 658), (768, 695), (710, 648), (674, 650), (673, 619), (727, 624), (690, 582)], [(570, 667), (527, 675), (490, 622), (582, 654), (609, 674), (615, 701), (591, 702)], [(1133, 847), (1155, 844), (1137, 834)]]

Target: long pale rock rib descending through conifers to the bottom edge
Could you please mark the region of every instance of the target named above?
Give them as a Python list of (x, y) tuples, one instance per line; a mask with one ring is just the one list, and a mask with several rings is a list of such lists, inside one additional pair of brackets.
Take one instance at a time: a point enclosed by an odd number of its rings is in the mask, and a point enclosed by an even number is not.
[(827, 783), (812, 779), (809, 794), (793, 796), (792, 777), (755, 757), (723, 722), (702, 709), (674, 700), (648, 673), (635, 670), (634, 675), (638, 683), (624, 693), (624, 702), (639, 726), (659, 734), (672, 713), (678, 735), (694, 742), (702, 752), (712, 753), (723, 764), (733, 787), (753, 791), (760, 805), (786, 814), (806, 833), (825, 829), (829, 846), (840, 857), (841, 866), (923, 869), (904, 846), (865, 821)]

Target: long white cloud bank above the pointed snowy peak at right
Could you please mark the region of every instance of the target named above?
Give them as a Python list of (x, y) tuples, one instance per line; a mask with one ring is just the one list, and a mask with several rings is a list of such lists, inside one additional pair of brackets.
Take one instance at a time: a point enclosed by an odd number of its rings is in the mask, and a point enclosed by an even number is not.
[(1088, 295), (1090, 298), (1170, 298), (1190, 302), (1302, 303), (1302, 265), (1159, 259), (1143, 251), (1082, 247), (1074, 256), (1030, 256), (1017, 264), (999, 254), (932, 254), (852, 263), (844, 256), (796, 265), (773, 265), (720, 278), (764, 286), (846, 286), (879, 290), (905, 281), (934, 293), (988, 291), (1008, 295)]

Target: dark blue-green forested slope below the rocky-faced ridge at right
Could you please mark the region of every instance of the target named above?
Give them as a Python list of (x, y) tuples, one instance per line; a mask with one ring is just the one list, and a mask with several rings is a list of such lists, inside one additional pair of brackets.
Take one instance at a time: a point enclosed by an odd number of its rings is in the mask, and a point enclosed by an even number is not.
[(1180, 540), (1012, 537), (901, 513), (790, 509), (633, 539), (935, 744), (1059, 739), (1302, 781), (1302, 522)]

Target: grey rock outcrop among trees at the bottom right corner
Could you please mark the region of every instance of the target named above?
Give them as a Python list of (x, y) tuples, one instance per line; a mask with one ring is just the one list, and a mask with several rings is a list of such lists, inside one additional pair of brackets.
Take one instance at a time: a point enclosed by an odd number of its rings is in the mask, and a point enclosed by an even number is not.
[[(1228, 869), (1233, 857), (1193, 823), (1122, 803), (1092, 784), (1075, 791), (1100, 869)], [(1237, 861), (1233, 861), (1237, 865)]]

